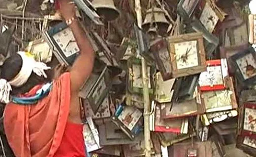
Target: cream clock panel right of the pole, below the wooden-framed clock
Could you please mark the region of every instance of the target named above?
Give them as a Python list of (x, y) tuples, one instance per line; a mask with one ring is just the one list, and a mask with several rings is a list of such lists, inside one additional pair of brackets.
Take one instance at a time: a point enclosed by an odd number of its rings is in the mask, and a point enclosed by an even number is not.
[(176, 78), (164, 81), (160, 72), (156, 74), (155, 79), (155, 101), (159, 103), (168, 103), (172, 100), (172, 87)]

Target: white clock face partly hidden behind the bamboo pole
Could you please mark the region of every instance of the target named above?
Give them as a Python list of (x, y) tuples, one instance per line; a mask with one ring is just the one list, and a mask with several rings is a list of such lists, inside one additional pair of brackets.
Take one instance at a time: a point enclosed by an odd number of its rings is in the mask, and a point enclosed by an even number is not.
[[(150, 67), (147, 67), (147, 70), (148, 70), (148, 78), (150, 78)], [(132, 86), (137, 88), (143, 88), (141, 65), (132, 64), (132, 75), (133, 75)], [(149, 85), (149, 88), (151, 88), (150, 80), (148, 85)]]

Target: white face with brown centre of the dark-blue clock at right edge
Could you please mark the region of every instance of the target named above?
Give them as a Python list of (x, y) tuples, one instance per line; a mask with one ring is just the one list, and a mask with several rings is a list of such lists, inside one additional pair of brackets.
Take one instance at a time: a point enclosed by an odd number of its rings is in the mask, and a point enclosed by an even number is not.
[(256, 61), (252, 53), (249, 53), (236, 60), (244, 79), (256, 76)]

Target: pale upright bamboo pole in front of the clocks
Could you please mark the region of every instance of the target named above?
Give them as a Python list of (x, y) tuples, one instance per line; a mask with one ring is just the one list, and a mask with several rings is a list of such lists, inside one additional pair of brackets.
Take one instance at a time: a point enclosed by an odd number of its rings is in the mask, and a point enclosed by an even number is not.
[[(135, 11), (137, 14), (137, 23), (139, 28), (142, 25), (142, 15), (141, 15), (141, 5), (140, 0), (135, 0)], [(145, 157), (151, 157), (151, 139), (149, 130), (149, 115), (150, 115), (150, 99), (149, 99), (149, 89), (148, 89), (148, 71), (146, 60), (141, 58), (142, 66), (142, 79), (143, 79), (143, 97), (144, 97), (144, 141), (145, 141)]]

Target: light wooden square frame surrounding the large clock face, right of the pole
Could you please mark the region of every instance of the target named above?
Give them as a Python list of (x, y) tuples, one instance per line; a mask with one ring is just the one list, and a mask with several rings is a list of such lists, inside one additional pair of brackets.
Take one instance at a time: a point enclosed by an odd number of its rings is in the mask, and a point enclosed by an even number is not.
[[(188, 42), (188, 41), (196, 41), (197, 42), (197, 62), (198, 66), (178, 69), (176, 62), (176, 53), (175, 53), (175, 44)], [(174, 78), (189, 76), (193, 74), (198, 74), (206, 70), (206, 59), (205, 59), (205, 51), (203, 45), (203, 36), (202, 33), (189, 33), (182, 34), (179, 36), (172, 36), (168, 38), (169, 46), (170, 46), (170, 59), (172, 64), (172, 75)]]

